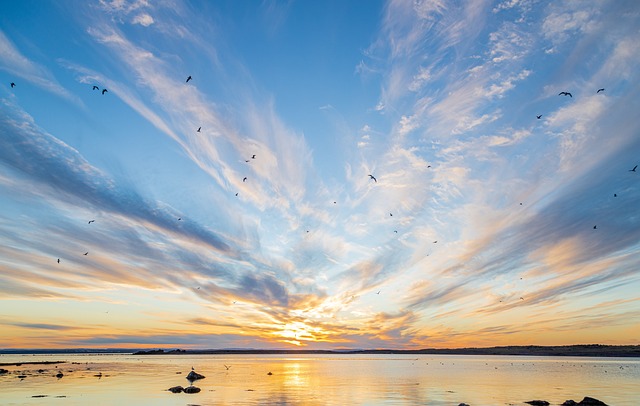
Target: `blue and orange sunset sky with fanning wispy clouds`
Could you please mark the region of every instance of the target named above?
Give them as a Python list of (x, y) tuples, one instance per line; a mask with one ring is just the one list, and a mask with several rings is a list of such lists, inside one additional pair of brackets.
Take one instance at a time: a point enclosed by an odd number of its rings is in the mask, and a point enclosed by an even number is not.
[(0, 348), (640, 344), (639, 38), (635, 0), (0, 2)]

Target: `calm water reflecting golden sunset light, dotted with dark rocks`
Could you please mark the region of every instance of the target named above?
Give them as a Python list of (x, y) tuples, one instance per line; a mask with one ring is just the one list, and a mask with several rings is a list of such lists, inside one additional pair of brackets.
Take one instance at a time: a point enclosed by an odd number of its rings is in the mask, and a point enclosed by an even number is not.
[[(640, 405), (638, 358), (0, 355), (0, 363), (53, 360), (66, 363), (2, 367), (9, 373), (0, 375), (0, 404), (526, 406), (591, 396), (610, 406)], [(195, 383), (200, 393), (166, 391), (188, 386), (192, 366), (206, 376)]]

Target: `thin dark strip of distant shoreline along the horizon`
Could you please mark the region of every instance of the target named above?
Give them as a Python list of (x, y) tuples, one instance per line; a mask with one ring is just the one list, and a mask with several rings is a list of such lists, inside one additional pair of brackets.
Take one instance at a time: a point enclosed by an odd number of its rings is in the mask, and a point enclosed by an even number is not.
[(394, 349), (354, 349), (354, 350), (308, 350), (308, 349), (0, 349), (0, 354), (99, 354), (118, 353), (133, 355), (205, 355), (205, 354), (280, 354), (280, 355), (305, 355), (305, 354), (333, 354), (333, 355), (358, 355), (358, 354), (410, 354), (410, 355), (519, 355), (519, 356), (550, 356), (550, 357), (640, 357), (640, 345), (566, 345), (566, 346), (503, 346), (503, 347), (472, 347), (472, 348), (425, 348), (419, 350), (394, 350)]

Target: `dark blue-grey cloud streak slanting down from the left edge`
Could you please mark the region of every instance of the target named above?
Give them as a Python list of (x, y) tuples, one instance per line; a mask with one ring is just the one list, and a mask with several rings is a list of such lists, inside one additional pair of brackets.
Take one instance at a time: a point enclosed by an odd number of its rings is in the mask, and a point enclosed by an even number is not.
[(175, 228), (175, 212), (156, 205), (136, 191), (122, 188), (105, 173), (91, 166), (78, 151), (40, 129), (33, 119), (5, 101), (9, 113), (0, 119), (5, 136), (0, 141), (0, 161), (33, 181), (80, 198), (83, 204), (148, 221), (160, 228), (195, 238), (210, 247), (232, 254), (217, 235), (197, 224)]

